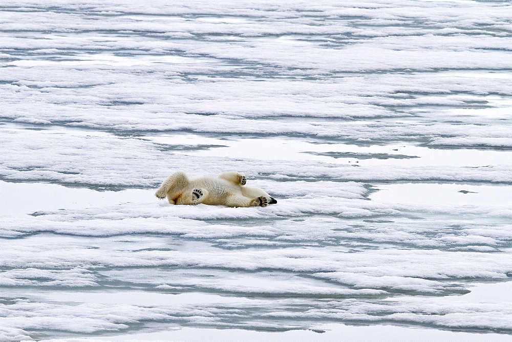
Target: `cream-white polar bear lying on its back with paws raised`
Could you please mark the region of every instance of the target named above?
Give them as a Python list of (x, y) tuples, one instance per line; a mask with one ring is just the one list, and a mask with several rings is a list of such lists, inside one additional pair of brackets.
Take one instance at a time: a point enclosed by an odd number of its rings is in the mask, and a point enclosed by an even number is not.
[(265, 191), (244, 186), (247, 178), (238, 172), (224, 172), (217, 178), (201, 177), (189, 180), (178, 171), (167, 177), (155, 196), (170, 204), (209, 204), (228, 207), (266, 207), (278, 203)]

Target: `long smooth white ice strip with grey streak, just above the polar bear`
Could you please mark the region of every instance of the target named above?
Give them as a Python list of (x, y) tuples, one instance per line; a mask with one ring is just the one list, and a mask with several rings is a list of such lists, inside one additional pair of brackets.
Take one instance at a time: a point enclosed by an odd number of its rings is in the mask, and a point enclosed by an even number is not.
[[(404, 166), (484, 166), (512, 163), (512, 151), (483, 149), (436, 149), (414, 145), (357, 145), (304, 141), (293, 138), (214, 138), (194, 134), (160, 134), (145, 139), (169, 145), (220, 145), (208, 149), (173, 151), (202, 157), (229, 157), (259, 160), (309, 160), (336, 164)], [(224, 145), (224, 146), (223, 146)], [(351, 154), (352, 156), (347, 156)]]

